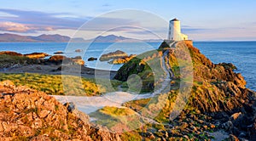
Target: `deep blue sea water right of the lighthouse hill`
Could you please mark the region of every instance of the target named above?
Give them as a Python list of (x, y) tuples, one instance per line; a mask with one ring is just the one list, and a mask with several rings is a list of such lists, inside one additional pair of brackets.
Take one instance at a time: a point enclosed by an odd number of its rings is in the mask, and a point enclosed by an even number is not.
[(256, 91), (256, 42), (194, 42), (213, 63), (232, 63), (244, 76), (247, 87)]

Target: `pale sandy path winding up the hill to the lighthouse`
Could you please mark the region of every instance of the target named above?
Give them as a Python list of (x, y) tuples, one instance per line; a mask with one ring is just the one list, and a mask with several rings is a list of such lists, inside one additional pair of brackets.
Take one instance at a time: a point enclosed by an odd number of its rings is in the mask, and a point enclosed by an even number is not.
[[(176, 42), (172, 42), (170, 47), (174, 46)], [(114, 106), (114, 107), (122, 107), (121, 105), (125, 102), (136, 100), (136, 99), (148, 99), (152, 98), (159, 93), (167, 93), (170, 91), (171, 78), (173, 76), (173, 72), (169, 65), (169, 60), (167, 62), (165, 60), (166, 55), (169, 53), (169, 50), (163, 54), (161, 61), (162, 68), (166, 72), (166, 77), (164, 78), (164, 82), (161, 82), (161, 87), (154, 91), (154, 93), (145, 93), (145, 94), (137, 94), (137, 93), (127, 93), (127, 92), (113, 92), (106, 93), (102, 96), (95, 97), (84, 97), (84, 96), (58, 96), (54, 95), (55, 99), (58, 99), (61, 103), (73, 102), (79, 110), (83, 111), (86, 114), (90, 114), (96, 110), (102, 109), (104, 106)], [(119, 89), (120, 90), (120, 89)]]

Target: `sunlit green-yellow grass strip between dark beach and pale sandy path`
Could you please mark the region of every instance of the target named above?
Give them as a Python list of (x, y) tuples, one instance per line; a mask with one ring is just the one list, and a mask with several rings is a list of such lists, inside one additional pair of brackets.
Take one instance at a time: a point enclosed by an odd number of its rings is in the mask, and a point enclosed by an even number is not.
[[(26, 86), (50, 95), (84, 95), (95, 96), (113, 91), (109, 86), (96, 85), (95, 80), (79, 76), (41, 75), (33, 73), (0, 73), (0, 81), (10, 80), (17, 86)], [(104, 81), (102, 80), (101, 84)], [(111, 81), (113, 87), (120, 82)]]

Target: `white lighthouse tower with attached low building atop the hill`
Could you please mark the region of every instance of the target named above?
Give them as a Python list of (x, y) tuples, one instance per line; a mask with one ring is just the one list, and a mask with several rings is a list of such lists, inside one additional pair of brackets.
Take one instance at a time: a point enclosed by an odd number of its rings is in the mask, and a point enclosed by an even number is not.
[(177, 20), (177, 18), (170, 20), (169, 22), (168, 40), (169, 41), (188, 40), (188, 36), (181, 32), (180, 21)]

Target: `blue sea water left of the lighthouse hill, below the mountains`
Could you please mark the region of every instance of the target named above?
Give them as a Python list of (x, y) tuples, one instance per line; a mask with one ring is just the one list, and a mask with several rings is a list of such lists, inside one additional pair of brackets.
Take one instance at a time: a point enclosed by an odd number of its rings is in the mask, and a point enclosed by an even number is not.
[[(90, 57), (99, 59), (102, 54), (108, 54), (116, 50), (126, 54), (142, 54), (160, 46), (160, 42), (0, 42), (0, 51), (15, 51), (20, 54), (47, 53), (54, 55), (55, 52), (64, 52), (68, 57), (81, 56), (85, 65), (90, 68), (117, 71), (122, 65), (110, 65), (108, 61), (87, 61)], [(80, 53), (76, 49), (82, 49)]]

